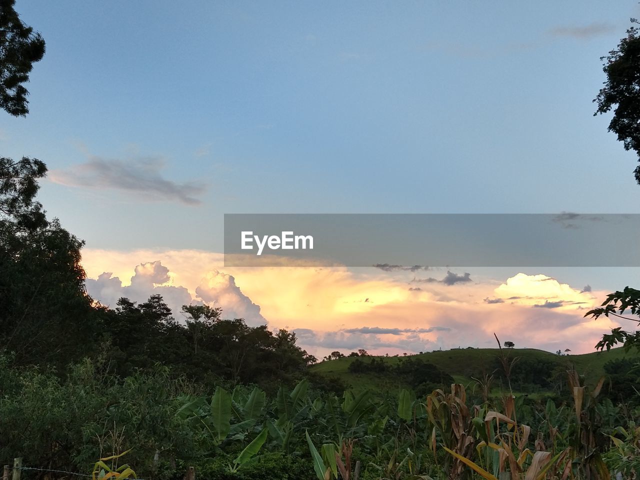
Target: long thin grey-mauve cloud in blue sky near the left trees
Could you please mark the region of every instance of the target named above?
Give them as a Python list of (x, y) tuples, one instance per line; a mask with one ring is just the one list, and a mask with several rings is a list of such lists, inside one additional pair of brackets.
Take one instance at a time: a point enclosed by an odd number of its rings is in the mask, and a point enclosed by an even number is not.
[(142, 196), (145, 200), (168, 200), (185, 205), (198, 205), (205, 191), (201, 182), (178, 183), (163, 178), (163, 157), (127, 157), (105, 159), (89, 155), (85, 163), (66, 170), (52, 170), (52, 182), (82, 188), (116, 189)]

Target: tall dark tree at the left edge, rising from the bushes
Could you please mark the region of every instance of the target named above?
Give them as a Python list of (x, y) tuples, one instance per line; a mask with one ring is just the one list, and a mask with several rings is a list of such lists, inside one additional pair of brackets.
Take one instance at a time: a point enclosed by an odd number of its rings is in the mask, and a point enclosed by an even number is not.
[(46, 172), (38, 159), (0, 158), (0, 344), (17, 363), (64, 366), (91, 350), (95, 312), (84, 243), (35, 201)]

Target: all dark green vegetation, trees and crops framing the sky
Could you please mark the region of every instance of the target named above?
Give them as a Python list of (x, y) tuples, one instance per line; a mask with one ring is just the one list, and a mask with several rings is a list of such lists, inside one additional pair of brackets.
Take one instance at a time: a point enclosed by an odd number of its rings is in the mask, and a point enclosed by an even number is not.
[[(13, 3), (0, 0), (0, 106), (24, 115), (44, 40)], [(598, 97), (626, 120), (637, 100), (620, 79), (636, 40), (630, 29), (612, 52)], [(610, 128), (638, 150), (637, 119), (625, 122)], [(616, 328), (591, 355), (498, 342), (403, 358), (334, 351), (315, 365), (294, 333), (218, 308), (185, 305), (181, 324), (160, 296), (97, 304), (83, 242), (35, 200), (46, 173), (38, 159), (0, 159), (3, 465), (21, 456), (47, 480), (171, 480), (187, 467), (207, 480), (637, 477), (640, 332)], [(640, 314), (639, 291), (587, 316), (637, 321), (625, 312)]]

